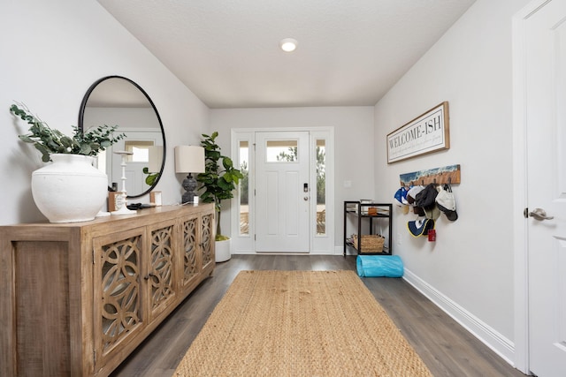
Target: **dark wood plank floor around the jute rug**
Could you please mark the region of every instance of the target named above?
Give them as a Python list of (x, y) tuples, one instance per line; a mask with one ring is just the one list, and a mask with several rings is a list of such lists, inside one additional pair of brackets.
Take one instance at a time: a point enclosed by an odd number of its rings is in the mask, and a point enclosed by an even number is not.
[[(356, 270), (356, 257), (234, 255), (217, 264), (212, 277), (201, 283), (112, 376), (172, 376), (233, 278), (246, 269)], [(409, 283), (395, 278), (364, 278), (363, 283), (435, 376), (524, 376)]]

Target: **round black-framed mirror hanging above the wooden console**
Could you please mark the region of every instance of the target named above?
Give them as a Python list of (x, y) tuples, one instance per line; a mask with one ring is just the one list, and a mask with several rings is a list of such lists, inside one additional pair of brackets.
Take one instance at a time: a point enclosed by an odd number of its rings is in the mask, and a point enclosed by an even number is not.
[(113, 152), (126, 150), (132, 152), (126, 162), (127, 197), (149, 193), (163, 174), (166, 155), (163, 123), (149, 95), (122, 76), (96, 80), (80, 103), (79, 128), (101, 124), (118, 124), (117, 132), (126, 133), (126, 138), (98, 155), (99, 169), (108, 175), (109, 187), (122, 187), (121, 156)]

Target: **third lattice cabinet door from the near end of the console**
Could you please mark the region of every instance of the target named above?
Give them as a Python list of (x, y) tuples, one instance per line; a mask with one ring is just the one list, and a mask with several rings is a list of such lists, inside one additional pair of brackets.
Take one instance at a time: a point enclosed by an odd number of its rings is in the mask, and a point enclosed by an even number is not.
[(182, 279), (181, 289), (185, 290), (198, 280), (198, 276), (203, 269), (203, 260), (199, 250), (199, 227), (200, 216), (189, 215), (181, 219), (183, 235), (182, 242)]

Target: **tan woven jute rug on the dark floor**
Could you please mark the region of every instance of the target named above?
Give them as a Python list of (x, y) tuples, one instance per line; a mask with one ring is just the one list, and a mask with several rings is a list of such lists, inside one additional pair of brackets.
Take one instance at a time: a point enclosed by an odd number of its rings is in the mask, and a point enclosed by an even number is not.
[(354, 271), (242, 271), (175, 376), (432, 376)]

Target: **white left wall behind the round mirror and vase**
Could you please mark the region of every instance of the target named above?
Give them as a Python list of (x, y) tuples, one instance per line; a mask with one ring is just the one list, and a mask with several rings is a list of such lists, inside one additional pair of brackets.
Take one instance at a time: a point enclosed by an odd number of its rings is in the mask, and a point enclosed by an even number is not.
[[(80, 101), (103, 76), (133, 79), (155, 103), (165, 129), (167, 158), (157, 185), (164, 203), (180, 201), (172, 147), (195, 144), (208, 125), (209, 109), (166, 70), (95, 0), (4, 0), (0, 2), (0, 224), (44, 220), (30, 191), (42, 166), (34, 147), (19, 142), (25, 124), (14, 122), (13, 101), (24, 102), (51, 127), (71, 133)], [(141, 198), (136, 201), (149, 201)]]

